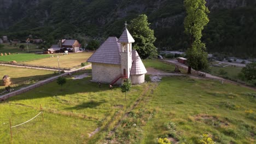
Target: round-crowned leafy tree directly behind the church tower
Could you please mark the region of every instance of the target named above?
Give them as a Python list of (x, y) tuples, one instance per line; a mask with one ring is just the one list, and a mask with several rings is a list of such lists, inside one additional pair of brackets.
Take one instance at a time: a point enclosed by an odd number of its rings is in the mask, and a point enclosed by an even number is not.
[(131, 20), (128, 25), (129, 32), (131, 33), (135, 43), (133, 49), (137, 50), (142, 59), (154, 57), (157, 54), (154, 42), (154, 30), (149, 28), (147, 15), (139, 15), (136, 19)]

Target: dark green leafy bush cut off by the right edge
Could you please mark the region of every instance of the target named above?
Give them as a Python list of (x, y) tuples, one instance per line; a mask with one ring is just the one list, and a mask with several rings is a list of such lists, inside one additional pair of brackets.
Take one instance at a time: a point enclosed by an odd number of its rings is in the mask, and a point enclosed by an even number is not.
[(246, 67), (243, 67), (242, 73), (247, 80), (256, 80), (256, 63), (248, 63)]

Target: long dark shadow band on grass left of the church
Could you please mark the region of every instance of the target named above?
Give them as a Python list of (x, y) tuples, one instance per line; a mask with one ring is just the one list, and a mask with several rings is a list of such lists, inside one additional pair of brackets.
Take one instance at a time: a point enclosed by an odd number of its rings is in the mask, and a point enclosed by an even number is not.
[[(50, 82), (46, 85), (32, 89), (31, 91), (11, 97), (4, 102), (18, 101), (18, 100), (29, 100), (29, 99), (40, 99), (54, 96), (65, 96), (73, 95), (77, 93), (98, 93), (98, 92), (109, 92), (108, 84), (101, 84), (101, 88), (98, 87), (98, 83), (91, 82), (91, 77), (85, 77), (84, 79), (72, 80), (67, 77), (67, 82), (61, 87), (57, 85), (56, 81)], [(114, 89), (118, 86), (114, 86)], [(114, 90), (113, 89), (113, 90)]]

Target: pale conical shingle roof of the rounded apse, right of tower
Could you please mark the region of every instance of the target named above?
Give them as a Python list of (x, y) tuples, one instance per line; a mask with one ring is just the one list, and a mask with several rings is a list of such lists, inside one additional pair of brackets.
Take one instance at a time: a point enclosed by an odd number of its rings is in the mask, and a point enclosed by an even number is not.
[(147, 70), (136, 50), (132, 50), (132, 61), (131, 75), (142, 75), (147, 73)]

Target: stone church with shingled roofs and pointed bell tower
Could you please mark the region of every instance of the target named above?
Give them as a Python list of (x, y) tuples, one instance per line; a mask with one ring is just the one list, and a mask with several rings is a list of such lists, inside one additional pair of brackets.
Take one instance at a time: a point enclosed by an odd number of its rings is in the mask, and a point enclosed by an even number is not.
[(132, 50), (135, 40), (125, 27), (121, 37), (109, 37), (88, 59), (92, 64), (92, 81), (122, 85), (130, 79), (132, 85), (144, 82), (147, 73), (136, 50)]

